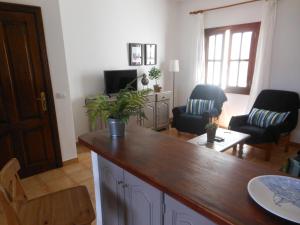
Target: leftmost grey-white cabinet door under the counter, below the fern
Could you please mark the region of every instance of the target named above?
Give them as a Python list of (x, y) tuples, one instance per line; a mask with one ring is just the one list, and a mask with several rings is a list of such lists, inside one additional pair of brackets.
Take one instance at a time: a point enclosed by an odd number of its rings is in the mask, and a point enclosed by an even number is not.
[(104, 225), (124, 225), (123, 169), (100, 158), (100, 191)]

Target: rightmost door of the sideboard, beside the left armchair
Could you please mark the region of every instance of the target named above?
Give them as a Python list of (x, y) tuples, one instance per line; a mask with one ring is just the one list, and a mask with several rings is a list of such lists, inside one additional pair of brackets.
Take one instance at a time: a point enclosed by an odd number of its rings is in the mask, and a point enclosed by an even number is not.
[(166, 128), (169, 125), (169, 100), (159, 101), (156, 104), (156, 128)]

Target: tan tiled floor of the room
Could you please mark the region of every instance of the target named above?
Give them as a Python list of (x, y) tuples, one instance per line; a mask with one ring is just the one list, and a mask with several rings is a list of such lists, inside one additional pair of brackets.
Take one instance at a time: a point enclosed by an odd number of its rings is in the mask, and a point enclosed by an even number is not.
[[(181, 133), (178, 135), (175, 129), (161, 131), (163, 134), (173, 136), (181, 140), (189, 140), (195, 135)], [(289, 157), (295, 156), (300, 150), (299, 147), (291, 146), (288, 153), (285, 153), (282, 148), (272, 150), (272, 158), (269, 162), (264, 161), (264, 150), (256, 149), (251, 146), (244, 148), (244, 160), (254, 161), (261, 165), (269, 166), (275, 170), (279, 170)], [(95, 207), (95, 192), (93, 186), (93, 175), (91, 170), (91, 155), (88, 149), (83, 146), (78, 146), (78, 162), (64, 166), (59, 169), (54, 169), (45, 173), (41, 173), (22, 180), (24, 189), (29, 198), (35, 198), (47, 193), (62, 190), (64, 188), (85, 185), (88, 188), (93, 205)], [(232, 154), (232, 149), (229, 149), (222, 154)], [(233, 156), (235, 157), (235, 156)], [(0, 212), (0, 225), (6, 224)], [(95, 224), (95, 223), (94, 223)]]

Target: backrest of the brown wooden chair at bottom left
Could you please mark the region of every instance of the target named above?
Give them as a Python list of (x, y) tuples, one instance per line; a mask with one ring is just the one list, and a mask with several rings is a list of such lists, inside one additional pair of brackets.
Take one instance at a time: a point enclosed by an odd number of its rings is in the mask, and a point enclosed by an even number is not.
[(27, 200), (18, 171), (20, 164), (16, 158), (11, 159), (0, 171), (0, 185), (4, 188), (8, 199), (17, 209), (19, 204)]

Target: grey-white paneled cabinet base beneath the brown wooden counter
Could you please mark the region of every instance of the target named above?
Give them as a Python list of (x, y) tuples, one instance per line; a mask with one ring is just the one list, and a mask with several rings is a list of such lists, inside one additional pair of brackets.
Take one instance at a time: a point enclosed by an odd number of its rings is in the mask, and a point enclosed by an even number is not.
[(98, 167), (102, 224), (97, 225), (215, 224), (100, 156)]

